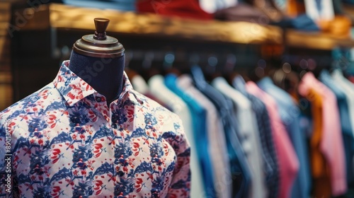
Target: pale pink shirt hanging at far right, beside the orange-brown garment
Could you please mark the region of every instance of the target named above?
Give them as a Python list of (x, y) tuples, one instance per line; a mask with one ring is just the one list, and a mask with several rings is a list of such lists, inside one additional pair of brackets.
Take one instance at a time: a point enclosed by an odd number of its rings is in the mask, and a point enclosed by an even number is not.
[(329, 88), (314, 77), (314, 74), (307, 72), (299, 84), (299, 93), (307, 95), (310, 88), (316, 90), (322, 96), (323, 131), (320, 149), (329, 164), (332, 195), (338, 196), (346, 192), (347, 185), (346, 161), (337, 99)]

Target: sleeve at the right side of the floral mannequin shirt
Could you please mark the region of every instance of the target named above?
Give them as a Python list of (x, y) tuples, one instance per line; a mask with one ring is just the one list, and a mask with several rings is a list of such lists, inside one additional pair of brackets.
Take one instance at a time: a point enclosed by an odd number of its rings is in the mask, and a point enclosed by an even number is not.
[(169, 141), (176, 153), (176, 166), (167, 197), (190, 196), (190, 144), (185, 136), (184, 128), (179, 117), (173, 117), (173, 127), (176, 134), (169, 136)]

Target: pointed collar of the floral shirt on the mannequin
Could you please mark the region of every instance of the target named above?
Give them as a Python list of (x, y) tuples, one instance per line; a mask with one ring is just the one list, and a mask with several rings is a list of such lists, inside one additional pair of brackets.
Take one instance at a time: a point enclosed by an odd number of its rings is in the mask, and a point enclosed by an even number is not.
[[(64, 100), (66, 100), (67, 104), (70, 106), (78, 103), (80, 100), (91, 94), (99, 94), (89, 85), (89, 83), (86, 83), (86, 81), (81, 79), (79, 76), (76, 76), (76, 74), (69, 69), (69, 60), (62, 63), (62, 66), (60, 67), (53, 83), (55, 88), (57, 88)], [(123, 73), (123, 85), (122, 93), (120, 93), (120, 96), (116, 102), (120, 102), (123, 98), (126, 98), (125, 96), (127, 93), (133, 91), (132, 84), (130, 83), (125, 72)], [(135, 98), (138, 103), (142, 103), (142, 101), (137, 98), (135, 93), (132, 95), (134, 95), (133, 98)]]

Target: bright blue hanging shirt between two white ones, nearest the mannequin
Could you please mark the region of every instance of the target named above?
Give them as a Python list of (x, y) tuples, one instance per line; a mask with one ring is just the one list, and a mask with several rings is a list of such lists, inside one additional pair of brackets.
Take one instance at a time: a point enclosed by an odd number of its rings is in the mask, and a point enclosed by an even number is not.
[(165, 85), (173, 93), (179, 95), (182, 100), (188, 105), (190, 112), (192, 113), (193, 133), (197, 142), (197, 153), (199, 163), (202, 172), (202, 182), (205, 186), (205, 193), (202, 194), (205, 197), (216, 197), (214, 187), (214, 170), (212, 169), (212, 160), (210, 159), (210, 153), (208, 151), (209, 140), (207, 137), (206, 129), (206, 110), (195, 101), (193, 97), (186, 94), (177, 86), (177, 77), (174, 74), (168, 74), (165, 76)]

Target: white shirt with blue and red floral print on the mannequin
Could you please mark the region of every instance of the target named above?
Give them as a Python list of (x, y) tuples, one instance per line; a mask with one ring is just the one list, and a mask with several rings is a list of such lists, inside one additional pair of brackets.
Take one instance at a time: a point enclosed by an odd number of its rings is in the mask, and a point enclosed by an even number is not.
[(10, 154), (14, 197), (189, 197), (181, 120), (126, 74), (123, 83), (108, 107), (66, 61), (52, 83), (0, 113), (1, 180)]

